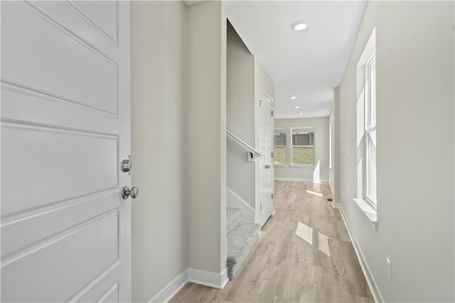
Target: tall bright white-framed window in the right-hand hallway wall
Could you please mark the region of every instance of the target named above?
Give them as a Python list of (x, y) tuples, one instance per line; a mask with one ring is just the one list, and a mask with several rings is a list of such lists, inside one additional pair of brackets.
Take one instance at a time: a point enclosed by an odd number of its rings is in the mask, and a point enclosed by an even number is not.
[(365, 63), (365, 199), (376, 205), (376, 55)]

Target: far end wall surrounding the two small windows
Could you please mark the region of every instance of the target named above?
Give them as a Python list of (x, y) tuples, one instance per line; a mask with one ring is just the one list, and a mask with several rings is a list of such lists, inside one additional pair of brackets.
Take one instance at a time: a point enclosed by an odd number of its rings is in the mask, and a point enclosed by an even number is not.
[[(287, 128), (287, 165), (275, 165), (275, 180), (328, 182), (328, 121), (328, 117), (275, 120), (275, 128)], [(291, 127), (315, 127), (314, 166), (291, 167)]]

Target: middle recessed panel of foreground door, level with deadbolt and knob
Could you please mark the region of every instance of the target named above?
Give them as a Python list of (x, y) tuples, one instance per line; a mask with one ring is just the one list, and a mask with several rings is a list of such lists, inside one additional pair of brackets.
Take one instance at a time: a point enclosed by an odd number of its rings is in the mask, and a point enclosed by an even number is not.
[(117, 137), (13, 123), (1, 136), (3, 216), (117, 187)]

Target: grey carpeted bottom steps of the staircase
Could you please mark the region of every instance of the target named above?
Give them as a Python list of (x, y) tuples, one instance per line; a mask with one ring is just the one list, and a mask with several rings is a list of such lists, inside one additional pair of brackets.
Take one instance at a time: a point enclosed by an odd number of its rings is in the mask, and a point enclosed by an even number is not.
[(261, 225), (242, 222), (240, 208), (227, 209), (228, 231), (228, 277), (232, 280), (234, 272), (245, 261), (248, 253), (259, 239)]

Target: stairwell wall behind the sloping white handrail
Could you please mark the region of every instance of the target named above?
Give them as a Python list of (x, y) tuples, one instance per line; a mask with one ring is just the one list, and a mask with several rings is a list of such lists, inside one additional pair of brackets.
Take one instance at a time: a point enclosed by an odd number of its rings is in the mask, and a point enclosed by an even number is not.
[[(230, 23), (227, 48), (227, 127), (254, 147), (255, 57)], [(254, 222), (251, 208), (255, 208), (255, 162), (247, 162), (247, 149), (230, 137), (227, 148), (228, 188), (235, 193), (228, 194), (228, 207), (242, 208), (243, 220)]]

